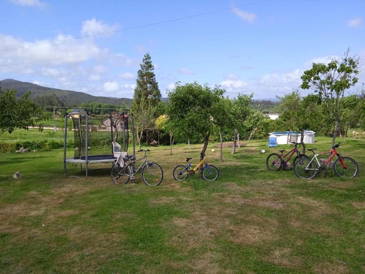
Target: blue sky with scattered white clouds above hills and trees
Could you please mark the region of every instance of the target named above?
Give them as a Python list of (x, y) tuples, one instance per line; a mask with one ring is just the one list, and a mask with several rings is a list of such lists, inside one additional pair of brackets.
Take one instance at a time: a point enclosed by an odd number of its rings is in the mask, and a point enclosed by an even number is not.
[[(177, 81), (283, 96), (348, 47), (365, 64), (364, 0), (1, 0), (0, 10), (0, 80), (97, 96), (132, 98), (146, 52), (162, 97)], [(365, 66), (355, 89), (364, 82)]]

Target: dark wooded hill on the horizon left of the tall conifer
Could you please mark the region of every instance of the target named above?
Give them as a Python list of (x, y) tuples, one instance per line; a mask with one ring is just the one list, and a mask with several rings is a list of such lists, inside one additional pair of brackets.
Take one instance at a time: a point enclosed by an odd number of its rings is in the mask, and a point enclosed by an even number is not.
[(55, 94), (57, 98), (64, 103), (65, 106), (73, 106), (74, 104), (98, 102), (98, 103), (110, 103), (120, 105), (122, 102), (128, 106), (131, 105), (132, 99), (129, 98), (116, 98), (105, 96), (93, 96), (85, 92), (78, 92), (72, 90), (59, 90), (58, 88), (42, 87), (28, 82), (22, 82), (14, 79), (4, 79), (0, 81), (0, 86), (3, 90), (12, 89), (16, 90), (17, 96), (22, 96), (25, 92), (31, 91), (31, 98), (35, 96), (51, 95)]

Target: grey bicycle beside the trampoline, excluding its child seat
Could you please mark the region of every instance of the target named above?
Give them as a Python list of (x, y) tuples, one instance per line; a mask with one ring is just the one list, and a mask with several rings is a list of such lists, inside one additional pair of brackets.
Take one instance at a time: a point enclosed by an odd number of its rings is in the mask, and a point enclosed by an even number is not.
[[(149, 162), (147, 156), (149, 155), (149, 149), (141, 149), (138, 152), (144, 151), (145, 156), (135, 159), (134, 155), (125, 155), (123, 157), (124, 164), (121, 167), (118, 161), (114, 163), (110, 170), (110, 176), (115, 184), (126, 184), (129, 180), (134, 180), (136, 173), (142, 168), (142, 179), (145, 184), (149, 186), (158, 186), (164, 178), (164, 172), (159, 164), (155, 162)], [(134, 170), (134, 163), (143, 160), (143, 163)]]

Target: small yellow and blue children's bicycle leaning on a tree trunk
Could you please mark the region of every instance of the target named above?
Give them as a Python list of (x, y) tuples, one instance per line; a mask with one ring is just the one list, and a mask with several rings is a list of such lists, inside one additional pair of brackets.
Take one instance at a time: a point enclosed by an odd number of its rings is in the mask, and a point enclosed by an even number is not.
[[(195, 172), (203, 164), (205, 164), (205, 167), (203, 168), (203, 171), (202, 171), (204, 180), (215, 181), (216, 179), (218, 179), (218, 176), (219, 176), (218, 168), (216, 168), (214, 165), (208, 164), (207, 156), (205, 156), (205, 154), (203, 154), (203, 159), (198, 164), (191, 164), (190, 163), (191, 159), (193, 159), (193, 158), (185, 158), (185, 161), (188, 162), (187, 166), (177, 165), (174, 168), (173, 176), (174, 176), (175, 180), (183, 181), (186, 178), (188, 178), (188, 176), (194, 176)], [(195, 165), (195, 167), (191, 168), (193, 165)]]

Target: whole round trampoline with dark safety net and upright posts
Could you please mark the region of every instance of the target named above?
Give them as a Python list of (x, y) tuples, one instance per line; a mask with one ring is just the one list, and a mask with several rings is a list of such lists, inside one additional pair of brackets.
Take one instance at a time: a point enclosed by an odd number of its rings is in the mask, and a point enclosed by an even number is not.
[[(74, 156), (66, 158), (68, 120), (72, 118), (74, 135)], [(64, 137), (64, 173), (67, 164), (77, 167), (85, 165), (85, 179), (88, 178), (88, 165), (100, 163), (114, 163), (113, 141), (123, 138), (123, 151), (128, 151), (129, 127), (128, 119), (132, 122), (133, 155), (135, 156), (134, 118), (133, 114), (114, 114), (108, 117), (90, 115), (84, 110), (73, 110), (65, 115)], [(70, 130), (70, 128), (69, 128)], [(120, 134), (119, 134), (120, 133)], [(110, 145), (110, 149), (105, 148)], [(102, 149), (104, 148), (104, 149)], [(78, 176), (71, 176), (77, 177)]]

